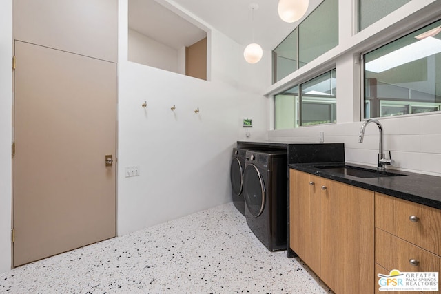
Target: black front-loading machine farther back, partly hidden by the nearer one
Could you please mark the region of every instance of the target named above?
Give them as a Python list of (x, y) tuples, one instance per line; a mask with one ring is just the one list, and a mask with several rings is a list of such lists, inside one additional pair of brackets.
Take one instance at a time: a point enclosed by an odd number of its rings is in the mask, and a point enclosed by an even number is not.
[(245, 171), (245, 155), (247, 149), (233, 148), (232, 164), (229, 178), (232, 182), (232, 198), (234, 206), (245, 216), (245, 200), (243, 199), (243, 172)]

